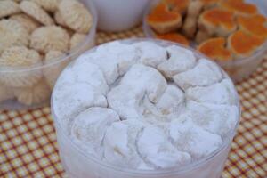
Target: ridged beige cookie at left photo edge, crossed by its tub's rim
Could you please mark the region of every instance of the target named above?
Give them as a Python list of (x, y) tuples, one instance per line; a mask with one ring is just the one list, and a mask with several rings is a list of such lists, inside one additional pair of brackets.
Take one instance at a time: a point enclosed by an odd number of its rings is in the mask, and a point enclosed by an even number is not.
[[(32, 67), (41, 64), (41, 57), (35, 50), (29, 50), (24, 46), (14, 46), (4, 50), (0, 58), (0, 66), (6, 68), (12, 67)], [(12, 73), (4, 73), (0, 81), (4, 85), (19, 87), (35, 85), (42, 77), (42, 71), (29, 70)]]

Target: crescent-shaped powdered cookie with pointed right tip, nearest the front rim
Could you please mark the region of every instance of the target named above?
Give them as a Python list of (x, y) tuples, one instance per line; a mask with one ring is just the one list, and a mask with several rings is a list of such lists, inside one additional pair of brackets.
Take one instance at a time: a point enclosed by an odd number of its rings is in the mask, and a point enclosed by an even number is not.
[(137, 148), (144, 161), (155, 169), (185, 165), (191, 161), (190, 154), (177, 150), (164, 131), (152, 125), (139, 135)]

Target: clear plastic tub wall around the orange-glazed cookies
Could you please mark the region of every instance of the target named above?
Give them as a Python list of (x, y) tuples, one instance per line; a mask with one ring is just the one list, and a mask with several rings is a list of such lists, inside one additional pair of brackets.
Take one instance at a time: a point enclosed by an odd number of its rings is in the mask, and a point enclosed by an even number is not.
[[(143, 31), (147, 37), (155, 37), (155, 32), (150, 28), (147, 23), (146, 17), (149, 14), (151, 8), (158, 4), (159, 0), (155, 0), (148, 5), (144, 17), (143, 17)], [(267, 17), (267, 3), (262, 0), (246, 0), (247, 3), (256, 4), (260, 12)], [(190, 43), (194, 46), (194, 43)], [(267, 40), (258, 48), (258, 50), (251, 56), (246, 58), (240, 58), (233, 61), (218, 61), (217, 63), (230, 75), (234, 82), (239, 82), (244, 78), (249, 77), (255, 69), (263, 61), (264, 54), (267, 53)]]

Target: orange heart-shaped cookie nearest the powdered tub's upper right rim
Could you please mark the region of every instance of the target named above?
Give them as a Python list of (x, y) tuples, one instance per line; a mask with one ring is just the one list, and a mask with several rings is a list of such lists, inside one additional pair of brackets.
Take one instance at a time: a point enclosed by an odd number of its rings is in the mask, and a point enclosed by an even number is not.
[(226, 40), (223, 37), (211, 38), (200, 44), (198, 46), (198, 51), (214, 60), (231, 60), (231, 52), (226, 49), (225, 44)]

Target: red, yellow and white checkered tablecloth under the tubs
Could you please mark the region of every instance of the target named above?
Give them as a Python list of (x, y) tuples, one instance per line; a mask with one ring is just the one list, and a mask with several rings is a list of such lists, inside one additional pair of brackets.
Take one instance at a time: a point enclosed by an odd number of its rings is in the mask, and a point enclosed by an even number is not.
[[(142, 37), (142, 28), (98, 33), (97, 43)], [(242, 118), (223, 178), (267, 177), (267, 58), (237, 85)], [(50, 108), (0, 111), (0, 177), (64, 177)]]

